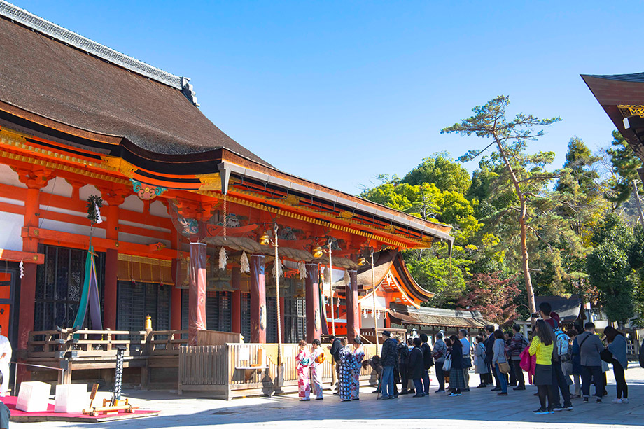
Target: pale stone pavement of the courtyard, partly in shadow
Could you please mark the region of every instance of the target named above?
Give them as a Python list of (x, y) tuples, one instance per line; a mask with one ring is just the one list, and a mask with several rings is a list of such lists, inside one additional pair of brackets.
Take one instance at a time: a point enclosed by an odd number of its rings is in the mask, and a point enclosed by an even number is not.
[[(209, 400), (177, 396), (169, 392), (128, 391), (132, 402), (145, 408), (161, 409), (162, 414), (148, 419), (112, 423), (11, 423), (11, 428), (628, 428), (644, 425), (644, 369), (630, 363), (626, 372), (629, 404), (612, 404), (615, 381), (608, 373), (608, 397), (604, 402), (582, 404), (573, 400), (571, 412), (536, 416), (539, 407), (533, 396), (535, 388), (509, 391), (498, 397), (489, 389), (472, 388), (457, 398), (431, 393), (426, 398), (401, 396), (396, 400), (377, 401), (373, 388), (360, 389), (360, 401), (339, 402), (334, 395), (323, 401), (299, 402), (296, 395), (277, 398)], [(432, 377), (435, 386), (435, 377)], [(478, 375), (470, 374), (472, 386)], [(435, 391), (436, 387), (432, 390)], [(592, 399), (591, 399), (592, 400)]]

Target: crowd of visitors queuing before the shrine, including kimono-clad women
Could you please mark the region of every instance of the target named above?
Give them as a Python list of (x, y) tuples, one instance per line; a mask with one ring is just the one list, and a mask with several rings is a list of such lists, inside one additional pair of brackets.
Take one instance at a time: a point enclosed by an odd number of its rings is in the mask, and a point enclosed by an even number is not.
[[(447, 393), (450, 397), (470, 391), (472, 367), (480, 377), (477, 388), (491, 386), (491, 391), (499, 396), (508, 395), (510, 386), (514, 391), (526, 390), (526, 371), (528, 383), (537, 388), (535, 396), (538, 396), (540, 407), (535, 413), (552, 414), (572, 410), (575, 398), (589, 402), (591, 384), (596, 402), (601, 402), (608, 395), (605, 372), (611, 363), (617, 384), (612, 402), (628, 403), (624, 334), (610, 326), (605, 328), (604, 345), (596, 335), (593, 323), (564, 332), (559, 316), (547, 302), (540, 304), (539, 312), (531, 339), (521, 334), (519, 325), (513, 325), (511, 332), (488, 325), (484, 335), (475, 337), (475, 344), (470, 344), (468, 331), (464, 329), (449, 337), (438, 332), (432, 349), (425, 334), (405, 340), (392, 337), (384, 330), (380, 356), (368, 360), (365, 360), (360, 337), (349, 344), (346, 338), (332, 336), (328, 349), (335, 363), (335, 394), (342, 401), (359, 400), (363, 367), (372, 367), (377, 373), (378, 387), (374, 393), (378, 393), (381, 400), (391, 400), (399, 395), (413, 395), (413, 398), (429, 395), (431, 367), (435, 368), (438, 384), (434, 393)], [(313, 394), (317, 400), (323, 399), (323, 362), (324, 353), (318, 339), (313, 341), (310, 350), (304, 340), (300, 341), (300, 353), (296, 358), (300, 400), (310, 400), (309, 373)]]

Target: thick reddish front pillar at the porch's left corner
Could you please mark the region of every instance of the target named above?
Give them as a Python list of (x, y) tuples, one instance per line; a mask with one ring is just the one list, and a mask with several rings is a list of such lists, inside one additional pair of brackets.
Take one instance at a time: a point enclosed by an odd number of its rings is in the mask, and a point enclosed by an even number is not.
[(206, 329), (206, 244), (190, 243), (188, 345), (197, 345), (197, 331)]

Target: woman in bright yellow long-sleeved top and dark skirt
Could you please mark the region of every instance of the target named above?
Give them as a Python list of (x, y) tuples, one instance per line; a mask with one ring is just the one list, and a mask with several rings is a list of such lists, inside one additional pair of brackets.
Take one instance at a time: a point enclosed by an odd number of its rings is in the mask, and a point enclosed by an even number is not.
[[(554, 391), (552, 391), (552, 349), (554, 338), (552, 330), (545, 325), (545, 321), (539, 319), (533, 330), (533, 338), (528, 352), (531, 356), (537, 356), (537, 366), (534, 373), (534, 385), (537, 386), (539, 402), (541, 407), (535, 409), (535, 414), (554, 414)], [(548, 406), (546, 407), (546, 398)]]

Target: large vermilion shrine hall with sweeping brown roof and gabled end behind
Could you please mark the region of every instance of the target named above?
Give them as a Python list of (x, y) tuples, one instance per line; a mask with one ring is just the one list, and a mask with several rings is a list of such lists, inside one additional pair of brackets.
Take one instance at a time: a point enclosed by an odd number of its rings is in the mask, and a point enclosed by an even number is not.
[[(149, 315), (192, 344), (205, 329), (352, 338), (387, 326), (392, 302), (432, 296), (399, 252), (451, 244), (449, 226), (279, 171), (206, 118), (188, 82), (0, 1), (0, 324), (14, 360), (71, 328), (90, 244), (94, 330), (139, 332)], [(90, 195), (104, 202), (93, 227)]]

